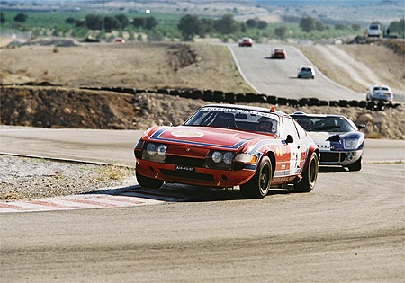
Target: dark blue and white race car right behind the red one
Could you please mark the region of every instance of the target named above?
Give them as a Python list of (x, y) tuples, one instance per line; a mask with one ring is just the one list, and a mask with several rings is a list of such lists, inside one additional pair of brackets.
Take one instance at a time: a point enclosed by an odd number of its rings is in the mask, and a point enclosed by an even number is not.
[[(345, 116), (295, 112), (291, 115), (320, 148), (320, 165), (341, 165), (350, 171), (362, 168), (365, 135)], [(364, 128), (364, 125), (358, 126)]]

